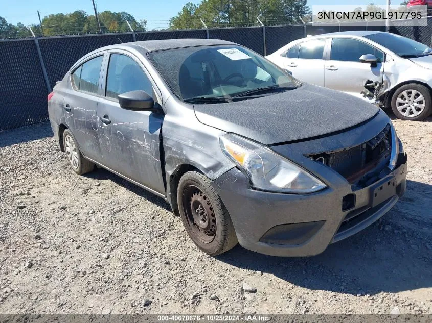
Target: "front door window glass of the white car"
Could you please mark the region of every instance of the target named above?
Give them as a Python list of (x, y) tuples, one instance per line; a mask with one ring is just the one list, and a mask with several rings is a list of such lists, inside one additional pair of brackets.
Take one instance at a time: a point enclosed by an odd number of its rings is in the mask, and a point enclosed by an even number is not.
[[(333, 38), (331, 41), (330, 59), (333, 61), (359, 62), (360, 56), (372, 54), (377, 58), (383, 59), (383, 54), (379, 57), (375, 47), (372, 47), (362, 41), (349, 38)], [(376, 55), (378, 54), (378, 55)]]

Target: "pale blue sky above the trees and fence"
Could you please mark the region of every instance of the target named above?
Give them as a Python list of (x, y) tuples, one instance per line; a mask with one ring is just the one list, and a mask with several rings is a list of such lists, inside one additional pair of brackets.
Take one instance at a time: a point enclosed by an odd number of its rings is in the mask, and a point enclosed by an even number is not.
[[(147, 19), (149, 28), (161, 28), (168, 20), (175, 16), (181, 8), (190, 0), (96, 0), (98, 12), (110, 10), (112, 12), (125, 11), (132, 14), (135, 19)], [(393, 1), (392, 4), (399, 5)], [(193, 1), (198, 3), (199, 1)], [(355, 5), (367, 5), (373, 2), (376, 5), (384, 5), (385, 0), (355, 0)], [(347, 0), (309, 0), (308, 6), (313, 5), (346, 5)], [(52, 13), (68, 13), (75, 10), (84, 10), (92, 14), (92, 0), (0, 0), (0, 16), (4, 17), (9, 23), (16, 24), (38, 24), (37, 10), (40, 11), (41, 18)]]

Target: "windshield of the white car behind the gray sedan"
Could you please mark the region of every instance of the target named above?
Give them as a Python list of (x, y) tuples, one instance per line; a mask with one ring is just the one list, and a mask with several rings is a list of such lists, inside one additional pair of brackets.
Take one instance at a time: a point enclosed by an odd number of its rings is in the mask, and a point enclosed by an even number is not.
[(377, 33), (367, 35), (365, 38), (368, 38), (380, 44), (381, 46), (389, 48), (390, 51), (394, 52), (400, 57), (414, 58), (432, 54), (432, 48), (415, 40), (395, 34)]

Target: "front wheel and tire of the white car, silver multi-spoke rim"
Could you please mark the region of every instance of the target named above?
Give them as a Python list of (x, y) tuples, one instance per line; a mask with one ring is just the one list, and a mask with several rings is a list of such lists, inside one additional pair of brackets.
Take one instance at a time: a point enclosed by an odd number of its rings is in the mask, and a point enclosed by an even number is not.
[(417, 83), (402, 85), (393, 93), (392, 110), (402, 120), (426, 119), (432, 112), (430, 90)]

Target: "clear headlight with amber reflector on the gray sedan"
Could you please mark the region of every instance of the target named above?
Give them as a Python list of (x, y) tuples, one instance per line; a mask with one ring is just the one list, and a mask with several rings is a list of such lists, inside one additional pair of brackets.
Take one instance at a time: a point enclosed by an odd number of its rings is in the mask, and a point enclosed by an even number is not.
[(272, 152), (269, 148), (235, 134), (220, 137), (228, 158), (246, 171), (251, 186), (265, 191), (312, 193), (327, 187), (306, 170)]

